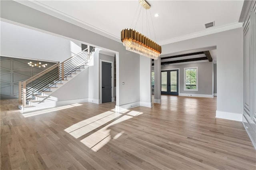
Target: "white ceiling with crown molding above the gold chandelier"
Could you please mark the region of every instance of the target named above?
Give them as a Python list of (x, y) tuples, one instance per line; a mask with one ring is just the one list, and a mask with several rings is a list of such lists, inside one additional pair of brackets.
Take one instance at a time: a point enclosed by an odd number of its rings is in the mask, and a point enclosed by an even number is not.
[[(142, 10), (140, 17), (138, 15), (134, 17), (137, 8), (139, 7), (139, 10), (141, 8), (138, 5), (138, 0), (38, 0), (17, 2), (72, 22), (118, 42), (121, 42), (121, 30), (135, 28), (138, 19), (136, 30), (160, 45), (164, 45), (242, 27), (242, 23), (238, 23), (238, 20), (244, 1), (147, 0), (151, 8), (150, 10)], [(148, 28), (151, 35), (149, 31), (146, 31), (147, 25), (145, 22), (146, 12), (150, 17), (149, 11), (154, 24), (154, 30), (152, 26)], [(158, 17), (154, 17), (156, 13), (159, 14)], [(144, 22), (142, 22), (142, 14), (144, 14)], [(204, 24), (212, 21), (214, 21), (215, 26), (206, 29)], [(149, 18), (150, 25), (152, 22)], [(156, 36), (154, 36), (154, 32)]]

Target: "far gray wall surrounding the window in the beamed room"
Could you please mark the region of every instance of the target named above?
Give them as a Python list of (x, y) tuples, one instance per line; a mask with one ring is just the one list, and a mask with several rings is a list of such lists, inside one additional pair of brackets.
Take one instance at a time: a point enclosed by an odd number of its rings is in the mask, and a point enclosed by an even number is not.
[[(184, 68), (198, 67), (198, 91), (184, 91)], [(212, 95), (212, 62), (162, 66), (161, 70), (180, 69), (180, 93)]]

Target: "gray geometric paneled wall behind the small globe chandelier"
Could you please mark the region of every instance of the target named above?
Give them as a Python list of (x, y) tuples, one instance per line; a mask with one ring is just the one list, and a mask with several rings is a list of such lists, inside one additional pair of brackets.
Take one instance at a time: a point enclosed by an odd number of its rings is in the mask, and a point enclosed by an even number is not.
[(18, 85), (19, 81), (26, 79), (40, 73), (44, 69), (52, 66), (55, 63), (41, 61), (43, 64), (47, 63), (46, 67), (31, 67), (28, 62), (37, 61), (28, 59), (19, 59), (11, 57), (0, 57), (0, 84), (1, 84), (1, 99), (15, 99), (18, 98)]

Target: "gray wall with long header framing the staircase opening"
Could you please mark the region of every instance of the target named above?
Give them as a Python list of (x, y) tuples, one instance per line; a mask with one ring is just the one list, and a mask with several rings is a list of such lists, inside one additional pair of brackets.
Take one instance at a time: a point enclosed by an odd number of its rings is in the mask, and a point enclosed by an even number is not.
[[(20, 23), (40, 29), (51, 34), (117, 51), (116, 105), (120, 106), (140, 101), (140, 57), (138, 54), (127, 51), (120, 42), (116, 42), (80, 26), (24, 6), (18, 2), (1, 1), (0, 3), (1, 18), (16, 22), (17, 24)], [(122, 82), (125, 82), (125, 85), (122, 85)]]

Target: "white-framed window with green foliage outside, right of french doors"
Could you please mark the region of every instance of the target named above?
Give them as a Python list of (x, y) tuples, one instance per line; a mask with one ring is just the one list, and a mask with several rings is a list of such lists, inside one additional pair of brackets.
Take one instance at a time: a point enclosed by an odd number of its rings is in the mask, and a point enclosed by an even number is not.
[(184, 68), (184, 90), (198, 91), (198, 67)]

